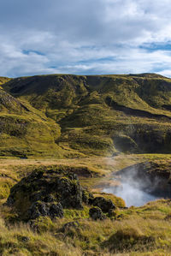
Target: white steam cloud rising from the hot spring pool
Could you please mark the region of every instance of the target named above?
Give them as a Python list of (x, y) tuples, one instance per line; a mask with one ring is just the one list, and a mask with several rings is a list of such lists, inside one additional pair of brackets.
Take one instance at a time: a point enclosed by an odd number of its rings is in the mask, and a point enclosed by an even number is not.
[(149, 201), (164, 197), (161, 193), (161, 179), (150, 176), (138, 167), (131, 167), (118, 172), (114, 179), (120, 186), (105, 187), (103, 192), (114, 193), (125, 200), (127, 207), (144, 205)]

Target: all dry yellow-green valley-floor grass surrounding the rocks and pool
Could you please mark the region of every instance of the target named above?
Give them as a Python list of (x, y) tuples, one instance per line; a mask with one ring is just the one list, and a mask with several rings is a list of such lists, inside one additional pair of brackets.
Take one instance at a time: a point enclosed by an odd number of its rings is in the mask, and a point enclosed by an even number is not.
[[(3, 203), (9, 194), (9, 188), (26, 176), (35, 167), (59, 166), (88, 166), (95, 170), (100, 177), (85, 178), (81, 182), (91, 187), (97, 182), (108, 181), (112, 171), (121, 170), (131, 164), (156, 159), (161, 163), (169, 162), (170, 155), (121, 155), (115, 158), (76, 158), (60, 160), (0, 160), (0, 188)], [(103, 175), (106, 175), (105, 177)], [(99, 192), (96, 192), (99, 195)], [(106, 195), (110, 197), (110, 195)], [(170, 255), (171, 251), (171, 225), (170, 225), (170, 200), (156, 200), (141, 207), (131, 207), (126, 210), (117, 209), (115, 217), (104, 221), (92, 221), (84, 214), (66, 211), (65, 217), (51, 221), (49, 218), (40, 219), (38, 229), (31, 229), (27, 223), (9, 223), (9, 208), (0, 206), (0, 255), (85, 255), (85, 256), (110, 256), (110, 255)], [(86, 215), (86, 214), (85, 214)], [(71, 229), (63, 234), (60, 229), (64, 223), (79, 222), (79, 229)], [(5, 220), (5, 222), (4, 222)], [(28, 239), (25, 240), (25, 237)], [(111, 246), (112, 238), (117, 241), (122, 237), (122, 248), (119, 242)], [(146, 238), (147, 237), (147, 238)], [(152, 237), (150, 244), (146, 244), (148, 237)], [(139, 239), (144, 238), (144, 244)], [(133, 243), (130, 248), (127, 244)]]

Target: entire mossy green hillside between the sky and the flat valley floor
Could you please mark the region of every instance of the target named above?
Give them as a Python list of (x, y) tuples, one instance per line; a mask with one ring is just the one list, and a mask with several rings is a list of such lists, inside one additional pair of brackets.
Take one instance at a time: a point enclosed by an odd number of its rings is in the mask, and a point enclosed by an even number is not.
[(171, 79), (162, 75), (51, 74), (0, 82), (1, 156), (171, 151)]

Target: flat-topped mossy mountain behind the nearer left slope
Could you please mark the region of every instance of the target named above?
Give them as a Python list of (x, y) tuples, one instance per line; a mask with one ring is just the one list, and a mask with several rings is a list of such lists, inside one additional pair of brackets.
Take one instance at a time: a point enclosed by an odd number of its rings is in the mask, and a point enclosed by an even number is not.
[(3, 90), (62, 128), (53, 140), (65, 156), (171, 151), (171, 80), (162, 75), (37, 75)]

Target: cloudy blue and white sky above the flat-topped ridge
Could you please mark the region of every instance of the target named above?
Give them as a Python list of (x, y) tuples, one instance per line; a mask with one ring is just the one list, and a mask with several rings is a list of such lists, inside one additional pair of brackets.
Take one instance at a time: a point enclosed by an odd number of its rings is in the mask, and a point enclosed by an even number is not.
[(171, 0), (0, 0), (0, 75), (171, 77)]

